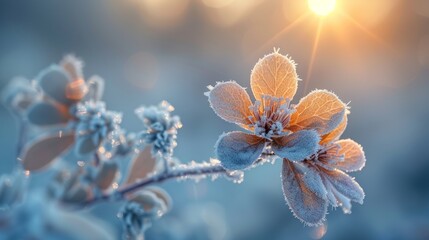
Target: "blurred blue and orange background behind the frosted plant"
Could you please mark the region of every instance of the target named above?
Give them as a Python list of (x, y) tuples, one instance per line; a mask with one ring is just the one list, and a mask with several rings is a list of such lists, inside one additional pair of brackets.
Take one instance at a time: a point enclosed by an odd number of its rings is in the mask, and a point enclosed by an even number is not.
[[(1, 1), (0, 88), (74, 53), (87, 77), (105, 79), (104, 99), (124, 113), (126, 129), (141, 127), (136, 107), (167, 100), (184, 125), (176, 156), (204, 161), (221, 133), (238, 129), (210, 109), (206, 86), (233, 79), (250, 87), (253, 65), (279, 47), (303, 80), (294, 102), (315, 88), (350, 101), (344, 137), (367, 156), (353, 174), (364, 205), (354, 204), (351, 215), (330, 209), (324, 238), (429, 239), (429, 1), (338, 0), (323, 20), (308, 11), (298, 0)], [(0, 119), (0, 173), (7, 173), (18, 130), (4, 106)], [(248, 171), (241, 184), (163, 184), (173, 211), (147, 239), (317, 237), (286, 206), (280, 168)], [(119, 236), (116, 210), (93, 212)]]

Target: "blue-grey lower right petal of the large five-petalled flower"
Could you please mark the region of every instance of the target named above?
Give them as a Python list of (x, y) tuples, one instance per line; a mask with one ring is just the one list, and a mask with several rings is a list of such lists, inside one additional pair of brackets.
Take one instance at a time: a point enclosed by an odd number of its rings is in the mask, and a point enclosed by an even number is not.
[(303, 161), (317, 152), (320, 138), (314, 130), (302, 130), (273, 140), (271, 149), (277, 156)]

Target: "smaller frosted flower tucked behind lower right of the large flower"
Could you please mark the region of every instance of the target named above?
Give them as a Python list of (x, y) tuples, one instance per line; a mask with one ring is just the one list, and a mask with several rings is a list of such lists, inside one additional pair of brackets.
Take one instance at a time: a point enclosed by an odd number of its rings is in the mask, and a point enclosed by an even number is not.
[(329, 204), (350, 213), (351, 201), (363, 203), (362, 188), (345, 172), (360, 171), (365, 155), (353, 140), (338, 140), (346, 126), (344, 114), (337, 128), (322, 136), (316, 154), (302, 162), (283, 160), (284, 195), (295, 216), (309, 225), (321, 223)]

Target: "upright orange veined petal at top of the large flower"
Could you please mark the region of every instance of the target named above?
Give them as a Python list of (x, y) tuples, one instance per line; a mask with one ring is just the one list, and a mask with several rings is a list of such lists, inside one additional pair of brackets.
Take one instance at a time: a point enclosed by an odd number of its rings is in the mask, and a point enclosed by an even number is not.
[(295, 63), (278, 52), (268, 54), (253, 68), (250, 85), (257, 100), (262, 95), (291, 100), (298, 87)]

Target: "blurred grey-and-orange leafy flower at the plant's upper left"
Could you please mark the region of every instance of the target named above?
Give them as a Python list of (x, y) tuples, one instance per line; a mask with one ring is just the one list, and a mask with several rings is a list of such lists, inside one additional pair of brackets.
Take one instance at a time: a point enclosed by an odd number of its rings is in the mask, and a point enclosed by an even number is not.
[(52, 65), (39, 74), (35, 81), (43, 98), (28, 109), (27, 118), (31, 123), (50, 126), (73, 119), (72, 107), (88, 92), (82, 67), (79, 59), (68, 55), (59, 65)]

